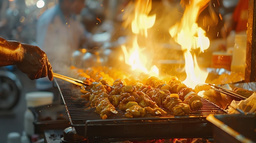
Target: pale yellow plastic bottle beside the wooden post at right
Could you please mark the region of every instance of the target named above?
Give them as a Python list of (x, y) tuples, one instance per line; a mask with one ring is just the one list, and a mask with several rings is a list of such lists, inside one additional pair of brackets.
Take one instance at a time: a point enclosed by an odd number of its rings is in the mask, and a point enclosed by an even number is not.
[(231, 71), (245, 77), (247, 34), (236, 34), (231, 62)]

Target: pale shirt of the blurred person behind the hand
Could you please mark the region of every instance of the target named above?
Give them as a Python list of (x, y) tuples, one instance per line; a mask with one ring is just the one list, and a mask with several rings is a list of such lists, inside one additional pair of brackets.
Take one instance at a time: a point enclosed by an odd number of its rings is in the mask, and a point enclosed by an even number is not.
[(36, 27), (36, 43), (52, 64), (53, 71), (65, 74), (72, 65), (72, 53), (80, 48), (85, 28), (73, 17), (65, 18), (59, 4), (41, 15)]

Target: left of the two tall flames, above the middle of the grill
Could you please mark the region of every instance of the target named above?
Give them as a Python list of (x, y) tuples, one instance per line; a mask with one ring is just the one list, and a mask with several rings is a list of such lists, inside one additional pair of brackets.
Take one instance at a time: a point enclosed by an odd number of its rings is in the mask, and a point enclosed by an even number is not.
[(126, 47), (121, 45), (124, 52), (125, 62), (130, 65), (132, 70), (139, 73), (146, 73), (151, 76), (158, 76), (159, 70), (154, 65), (150, 69), (146, 67), (148, 64), (148, 55), (145, 55), (146, 47), (140, 47), (137, 39), (138, 36), (143, 36), (145, 39), (148, 37), (148, 29), (155, 23), (156, 15), (148, 15), (152, 7), (151, 0), (136, 0), (134, 5), (133, 15), (128, 15), (125, 25), (131, 24), (132, 28), (132, 46)]

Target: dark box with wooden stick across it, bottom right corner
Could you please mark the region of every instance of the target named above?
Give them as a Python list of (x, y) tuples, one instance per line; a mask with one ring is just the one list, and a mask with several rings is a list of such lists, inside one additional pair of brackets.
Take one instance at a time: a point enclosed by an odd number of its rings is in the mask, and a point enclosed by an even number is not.
[(209, 115), (215, 143), (256, 143), (256, 114)]

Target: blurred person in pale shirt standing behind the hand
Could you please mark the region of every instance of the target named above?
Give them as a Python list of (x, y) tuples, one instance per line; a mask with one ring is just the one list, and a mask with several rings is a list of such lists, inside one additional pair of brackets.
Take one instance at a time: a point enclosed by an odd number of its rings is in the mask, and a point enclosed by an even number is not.
[[(88, 38), (83, 24), (76, 20), (85, 7), (85, 0), (59, 0), (38, 19), (36, 44), (45, 51), (54, 72), (67, 75), (72, 53), (82, 47)], [(47, 79), (36, 82), (38, 89), (52, 88)]]

